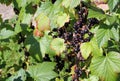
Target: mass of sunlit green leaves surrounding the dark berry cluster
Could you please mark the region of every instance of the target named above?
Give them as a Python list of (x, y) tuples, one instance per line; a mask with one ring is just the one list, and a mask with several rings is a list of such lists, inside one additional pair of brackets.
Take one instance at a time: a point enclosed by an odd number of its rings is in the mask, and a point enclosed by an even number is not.
[[(120, 1), (108, 0), (109, 9), (103, 11), (83, 0), (88, 7), (88, 18), (97, 18), (99, 25), (90, 31), (95, 33), (90, 42), (81, 44), (86, 60), (81, 81), (119, 81), (120, 73)], [(0, 0), (12, 4), (16, 15), (3, 21), (0, 15), (0, 80), (1, 81), (71, 81), (74, 69), (66, 72), (68, 62), (57, 73), (55, 55), (65, 58), (66, 44), (61, 38), (48, 35), (54, 28), (61, 28), (77, 19), (79, 0)], [(91, 3), (91, 4), (89, 4)], [(34, 26), (34, 27), (33, 27)], [(51, 62), (43, 60), (49, 54)], [(88, 59), (92, 56), (91, 59)], [(83, 68), (83, 67), (82, 67)]]

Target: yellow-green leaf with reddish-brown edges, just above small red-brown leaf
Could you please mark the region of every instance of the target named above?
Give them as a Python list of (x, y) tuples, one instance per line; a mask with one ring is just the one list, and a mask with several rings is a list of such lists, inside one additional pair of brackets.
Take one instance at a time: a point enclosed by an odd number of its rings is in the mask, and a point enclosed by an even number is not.
[(45, 31), (50, 29), (50, 20), (44, 13), (40, 13), (36, 17), (36, 24), (37, 24), (37, 28), (40, 31)]

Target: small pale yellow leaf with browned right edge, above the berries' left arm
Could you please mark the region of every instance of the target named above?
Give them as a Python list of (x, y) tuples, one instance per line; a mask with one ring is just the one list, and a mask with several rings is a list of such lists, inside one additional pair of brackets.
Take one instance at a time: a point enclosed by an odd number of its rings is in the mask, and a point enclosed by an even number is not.
[(57, 24), (58, 24), (59, 27), (64, 26), (64, 24), (66, 22), (68, 22), (68, 21), (69, 21), (69, 15), (67, 15), (66, 13), (58, 14), (58, 16), (57, 16)]

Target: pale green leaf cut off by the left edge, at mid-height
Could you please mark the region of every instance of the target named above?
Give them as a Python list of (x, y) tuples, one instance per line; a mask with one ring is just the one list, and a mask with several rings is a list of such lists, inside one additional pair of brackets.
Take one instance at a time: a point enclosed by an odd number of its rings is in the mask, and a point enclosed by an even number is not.
[(6, 30), (6, 28), (3, 28), (0, 31), (0, 39), (6, 39), (14, 35), (14, 32), (11, 30)]

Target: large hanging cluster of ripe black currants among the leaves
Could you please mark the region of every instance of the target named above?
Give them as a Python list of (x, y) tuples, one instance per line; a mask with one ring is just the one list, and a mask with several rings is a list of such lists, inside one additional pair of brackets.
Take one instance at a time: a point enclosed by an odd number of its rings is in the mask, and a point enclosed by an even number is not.
[[(65, 40), (66, 43), (66, 58), (72, 64), (76, 65), (75, 77), (73, 81), (79, 81), (79, 77), (82, 74), (82, 70), (80, 69), (79, 62), (84, 62), (84, 58), (80, 52), (80, 45), (84, 42), (89, 42), (93, 37), (93, 33), (90, 32), (90, 29), (95, 24), (98, 24), (99, 21), (96, 18), (87, 18), (88, 17), (88, 9), (84, 5), (82, 5), (78, 11), (78, 19), (74, 23), (71, 31), (69, 31), (69, 23), (66, 23), (61, 28), (55, 28), (49, 34), (53, 36), (53, 38), (59, 37)], [(57, 32), (57, 34), (53, 34), (53, 32)], [(70, 64), (70, 65), (71, 65)]]

